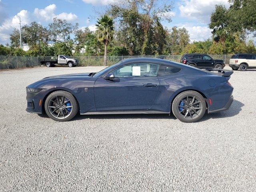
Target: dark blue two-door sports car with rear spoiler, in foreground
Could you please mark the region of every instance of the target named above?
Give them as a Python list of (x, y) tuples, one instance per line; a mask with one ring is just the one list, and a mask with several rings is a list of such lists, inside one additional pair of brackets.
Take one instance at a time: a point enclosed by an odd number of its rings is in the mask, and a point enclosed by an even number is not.
[(27, 86), (27, 109), (56, 121), (80, 114), (172, 112), (182, 122), (227, 110), (232, 71), (200, 70), (154, 58), (122, 60), (98, 73), (46, 77)]

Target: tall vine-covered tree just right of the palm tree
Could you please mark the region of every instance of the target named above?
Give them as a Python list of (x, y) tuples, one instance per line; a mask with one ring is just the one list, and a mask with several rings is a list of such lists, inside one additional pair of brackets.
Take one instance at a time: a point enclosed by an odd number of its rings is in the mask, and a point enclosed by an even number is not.
[(111, 4), (108, 13), (116, 20), (117, 38), (130, 55), (162, 54), (166, 30), (162, 20), (171, 21), (172, 3), (157, 0), (120, 0)]

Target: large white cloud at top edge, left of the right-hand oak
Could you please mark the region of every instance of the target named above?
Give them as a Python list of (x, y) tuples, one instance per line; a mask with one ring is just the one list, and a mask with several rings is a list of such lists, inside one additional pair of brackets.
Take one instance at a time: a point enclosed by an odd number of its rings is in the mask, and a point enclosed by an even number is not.
[(179, 6), (180, 16), (207, 22), (216, 4), (229, 7), (228, 0), (183, 0), (182, 5)]

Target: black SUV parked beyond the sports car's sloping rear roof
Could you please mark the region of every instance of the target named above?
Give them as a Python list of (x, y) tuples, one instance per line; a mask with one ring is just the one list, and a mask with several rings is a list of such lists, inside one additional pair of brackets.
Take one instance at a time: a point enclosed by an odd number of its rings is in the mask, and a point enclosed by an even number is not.
[(223, 69), (225, 67), (224, 60), (212, 59), (210, 56), (206, 54), (184, 54), (180, 62), (201, 69)]

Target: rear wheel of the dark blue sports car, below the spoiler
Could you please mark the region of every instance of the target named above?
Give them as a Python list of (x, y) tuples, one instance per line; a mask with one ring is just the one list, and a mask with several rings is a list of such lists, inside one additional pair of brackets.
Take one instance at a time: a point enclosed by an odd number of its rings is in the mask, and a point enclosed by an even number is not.
[[(187, 100), (189, 101), (188, 104), (186, 103)], [(191, 102), (194, 104), (191, 104)], [(206, 102), (203, 96), (196, 91), (182, 92), (172, 102), (172, 113), (181, 122), (197, 122), (204, 116), (205, 111)]]

